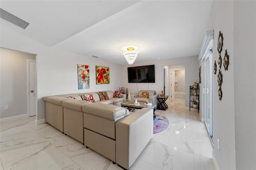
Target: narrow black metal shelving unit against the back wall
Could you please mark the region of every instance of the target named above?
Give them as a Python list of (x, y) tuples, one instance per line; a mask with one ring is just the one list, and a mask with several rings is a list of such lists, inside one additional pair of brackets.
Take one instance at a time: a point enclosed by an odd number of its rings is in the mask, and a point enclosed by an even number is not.
[[(196, 88), (195, 88), (196, 85)], [(189, 86), (190, 94), (189, 94), (189, 110), (190, 108), (198, 109), (199, 113), (199, 84), (195, 83), (192, 86)], [(194, 104), (197, 105), (194, 105)]]

